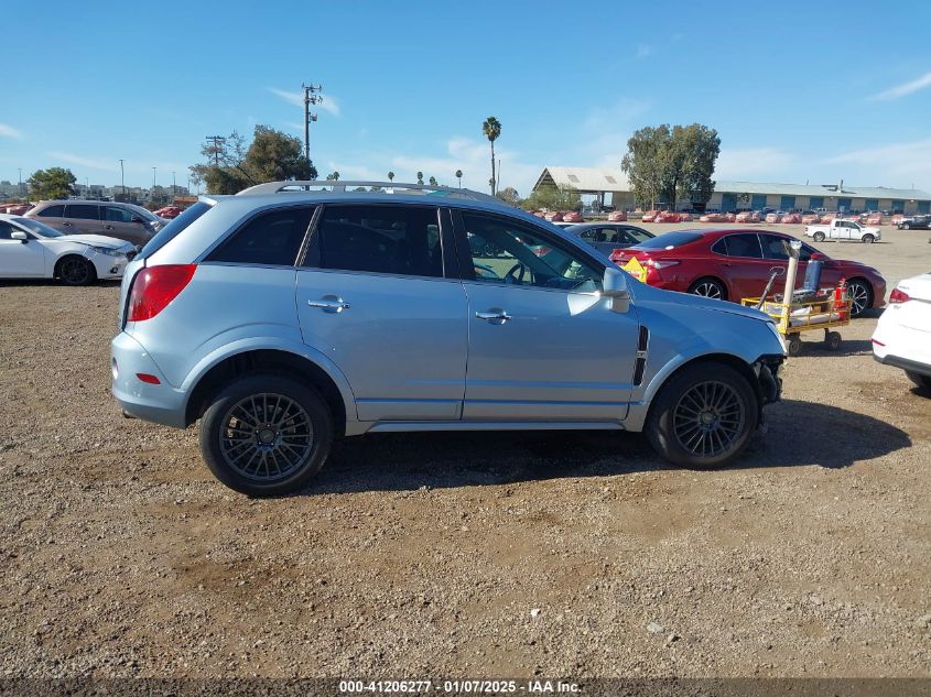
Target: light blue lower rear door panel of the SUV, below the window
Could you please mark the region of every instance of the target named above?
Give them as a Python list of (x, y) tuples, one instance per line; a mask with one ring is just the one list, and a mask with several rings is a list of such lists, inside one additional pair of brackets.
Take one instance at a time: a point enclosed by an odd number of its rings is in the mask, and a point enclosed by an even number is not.
[(297, 272), (304, 342), (346, 375), (359, 421), (459, 418), (466, 307), (456, 280)]

